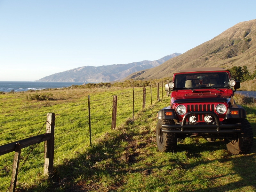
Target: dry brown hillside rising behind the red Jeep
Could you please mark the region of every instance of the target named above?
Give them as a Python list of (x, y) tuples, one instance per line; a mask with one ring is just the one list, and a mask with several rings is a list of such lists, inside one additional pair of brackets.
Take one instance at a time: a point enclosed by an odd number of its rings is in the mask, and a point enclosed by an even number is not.
[(256, 20), (244, 21), (227, 29), (201, 45), (175, 57), (161, 66), (136, 72), (126, 79), (158, 79), (172, 76), (185, 68), (222, 67), (246, 65), (254, 71), (256, 64)]

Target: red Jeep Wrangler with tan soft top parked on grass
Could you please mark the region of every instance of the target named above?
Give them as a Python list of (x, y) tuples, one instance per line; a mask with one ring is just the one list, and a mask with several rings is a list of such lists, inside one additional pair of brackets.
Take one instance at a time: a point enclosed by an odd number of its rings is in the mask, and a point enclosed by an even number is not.
[(224, 68), (191, 68), (174, 73), (165, 85), (170, 106), (157, 113), (156, 143), (159, 151), (175, 151), (177, 140), (201, 137), (226, 142), (232, 154), (252, 147), (252, 127), (246, 111), (236, 105), (234, 93), (240, 82)]

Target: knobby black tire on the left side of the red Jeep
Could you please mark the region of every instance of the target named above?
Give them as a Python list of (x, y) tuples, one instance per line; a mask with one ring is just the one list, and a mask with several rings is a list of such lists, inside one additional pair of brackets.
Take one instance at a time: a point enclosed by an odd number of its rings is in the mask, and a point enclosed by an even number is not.
[(163, 133), (163, 124), (175, 124), (173, 120), (159, 119), (156, 124), (156, 144), (160, 152), (174, 152), (177, 148), (177, 134)]

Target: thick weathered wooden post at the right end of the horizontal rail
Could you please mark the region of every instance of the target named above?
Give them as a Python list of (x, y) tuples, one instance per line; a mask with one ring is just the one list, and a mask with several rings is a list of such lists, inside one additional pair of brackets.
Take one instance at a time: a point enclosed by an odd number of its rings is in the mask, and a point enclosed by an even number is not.
[(55, 114), (48, 113), (46, 121), (46, 133), (51, 133), (50, 139), (44, 142), (44, 175), (53, 171), (54, 158), (54, 127)]

